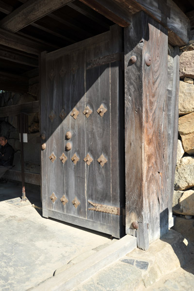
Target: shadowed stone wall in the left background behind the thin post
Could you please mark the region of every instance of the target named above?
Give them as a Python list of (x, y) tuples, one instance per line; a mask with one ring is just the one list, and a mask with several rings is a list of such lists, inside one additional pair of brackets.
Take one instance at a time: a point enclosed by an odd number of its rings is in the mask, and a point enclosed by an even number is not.
[[(27, 94), (14, 92), (0, 93), (0, 107), (27, 103), (38, 100), (38, 83), (29, 86)], [(24, 143), (25, 172), (40, 174), (40, 144), (39, 140), (39, 114), (28, 115), (28, 143)], [(10, 116), (0, 118), (0, 135), (8, 138), (8, 143), (15, 150), (13, 170), (21, 170), (20, 142), (17, 129), (17, 117)]]

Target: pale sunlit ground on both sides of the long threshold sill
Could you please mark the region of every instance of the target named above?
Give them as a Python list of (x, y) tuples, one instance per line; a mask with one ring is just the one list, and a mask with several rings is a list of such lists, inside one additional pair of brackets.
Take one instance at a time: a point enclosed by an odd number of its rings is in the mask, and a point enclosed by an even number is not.
[(118, 240), (45, 219), (41, 209), (32, 207), (41, 206), (39, 195), (28, 190), (29, 201), (20, 202), (20, 191), (14, 183), (0, 184), (1, 291), (194, 290), (194, 245), (174, 230), (152, 243), (146, 252), (134, 249), (114, 259), (73, 289), (63, 289), (57, 283), (54, 288), (45, 289), (45, 284), (53, 279), (68, 280), (71, 270), (87, 260), (89, 264), (96, 254), (108, 250)]

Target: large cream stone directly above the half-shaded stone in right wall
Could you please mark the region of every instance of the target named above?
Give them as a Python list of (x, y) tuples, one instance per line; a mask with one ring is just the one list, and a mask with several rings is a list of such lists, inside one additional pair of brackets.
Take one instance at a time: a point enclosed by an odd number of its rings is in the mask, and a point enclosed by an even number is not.
[(183, 157), (175, 171), (175, 190), (194, 187), (194, 157)]

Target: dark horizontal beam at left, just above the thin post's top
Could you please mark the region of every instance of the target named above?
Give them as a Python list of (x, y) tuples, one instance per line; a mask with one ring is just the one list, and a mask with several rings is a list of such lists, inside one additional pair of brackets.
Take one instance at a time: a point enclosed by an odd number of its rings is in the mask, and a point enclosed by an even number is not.
[(16, 116), (19, 113), (39, 112), (39, 101), (32, 101), (23, 104), (0, 107), (0, 117)]

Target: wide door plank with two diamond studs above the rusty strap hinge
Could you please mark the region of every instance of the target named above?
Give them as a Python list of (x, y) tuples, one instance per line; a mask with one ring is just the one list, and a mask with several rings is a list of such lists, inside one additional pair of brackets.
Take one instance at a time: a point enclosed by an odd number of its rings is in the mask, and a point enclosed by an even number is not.
[[(86, 152), (94, 161), (86, 167), (88, 200), (94, 203), (111, 205), (111, 150), (110, 150), (110, 65), (101, 65), (86, 70), (86, 104), (93, 113), (86, 120)], [(97, 81), (95, 81), (97, 80)], [(103, 116), (97, 109), (103, 105), (107, 112)], [(97, 160), (103, 155), (107, 162), (101, 166)], [(91, 205), (89, 205), (91, 207)], [(88, 219), (111, 224), (106, 213), (87, 211)]]

